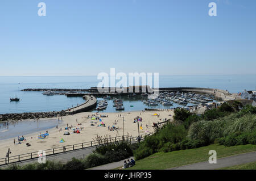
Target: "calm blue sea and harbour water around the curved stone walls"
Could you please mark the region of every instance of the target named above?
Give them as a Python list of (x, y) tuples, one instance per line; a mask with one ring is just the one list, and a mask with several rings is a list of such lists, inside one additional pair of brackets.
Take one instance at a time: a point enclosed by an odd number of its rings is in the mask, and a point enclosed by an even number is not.
[[(84, 102), (82, 98), (65, 95), (47, 96), (42, 92), (20, 91), (27, 88), (88, 89), (98, 85), (96, 76), (84, 77), (0, 77), (0, 114), (40, 111), (61, 111)], [(256, 89), (256, 75), (172, 75), (160, 76), (160, 87), (209, 87), (240, 92)], [(18, 96), (19, 102), (10, 102)], [(141, 100), (125, 100), (125, 111), (143, 110)], [(134, 107), (130, 107), (134, 106)], [(106, 112), (115, 112), (112, 104)]]

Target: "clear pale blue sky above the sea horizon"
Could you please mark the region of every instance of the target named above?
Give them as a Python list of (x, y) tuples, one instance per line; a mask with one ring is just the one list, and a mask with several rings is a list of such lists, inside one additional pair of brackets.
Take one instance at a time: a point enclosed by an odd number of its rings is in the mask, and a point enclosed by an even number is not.
[(255, 0), (1, 0), (0, 76), (256, 74), (255, 9)]

